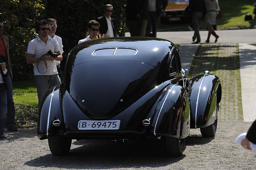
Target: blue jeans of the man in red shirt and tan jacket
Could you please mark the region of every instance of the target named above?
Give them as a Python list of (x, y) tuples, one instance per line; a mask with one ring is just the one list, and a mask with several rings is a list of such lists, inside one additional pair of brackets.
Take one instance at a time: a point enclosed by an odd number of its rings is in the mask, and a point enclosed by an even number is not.
[(10, 74), (5, 78), (5, 84), (7, 85), (7, 118), (5, 125), (9, 128), (16, 125), (14, 122), (15, 108), (12, 96), (12, 78)]

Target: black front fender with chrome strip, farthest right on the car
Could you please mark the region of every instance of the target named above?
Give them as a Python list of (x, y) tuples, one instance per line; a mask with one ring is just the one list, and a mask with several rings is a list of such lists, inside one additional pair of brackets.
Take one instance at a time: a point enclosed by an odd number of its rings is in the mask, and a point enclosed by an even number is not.
[(205, 71), (204, 74), (191, 78), (188, 88), (191, 128), (203, 128), (214, 123), (217, 118), (216, 104), (221, 100), (220, 79)]

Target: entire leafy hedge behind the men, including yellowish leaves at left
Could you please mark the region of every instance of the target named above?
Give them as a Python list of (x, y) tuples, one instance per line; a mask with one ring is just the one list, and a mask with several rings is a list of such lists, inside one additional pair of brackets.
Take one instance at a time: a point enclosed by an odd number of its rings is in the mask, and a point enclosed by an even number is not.
[(112, 4), (112, 17), (116, 19), (119, 36), (125, 33), (126, 0), (5, 0), (0, 5), (0, 18), (4, 20), (4, 34), (9, 37), (14, 80), (34, 77), (33, 65), (26, 63), (28, 42), (37, 34), (38, 20), (55, 18), (58, 21), (56, 35), (63, 41), (64, 69), (68, 52), (85, 38), (88, 22), (103, 15), (105, 4)]

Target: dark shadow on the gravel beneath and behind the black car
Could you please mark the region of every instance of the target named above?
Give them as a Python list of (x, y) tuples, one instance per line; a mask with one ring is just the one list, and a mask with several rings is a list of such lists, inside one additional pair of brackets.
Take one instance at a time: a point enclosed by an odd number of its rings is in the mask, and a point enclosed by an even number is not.
[[(74, 141), (74, 140), (73, 140)], [(72, 169), (110, 169), (162, 167), (178, 162), (186, 155), (166, 157), (159, 142), (110, 143), (104, 140), (73, 142), (70, 152), (61, 157), (47, 154), (25, 163), (34, 167), (58, 167)]]

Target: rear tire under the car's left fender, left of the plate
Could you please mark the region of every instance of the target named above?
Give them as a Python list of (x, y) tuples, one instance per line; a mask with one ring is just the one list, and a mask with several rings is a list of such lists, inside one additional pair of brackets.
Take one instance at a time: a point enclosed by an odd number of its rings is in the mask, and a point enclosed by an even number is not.
[(52, 155), (62, 156), (69, 152), (72, 139), (66, 139), (62, 136), (49, 136), (48, 144)]

